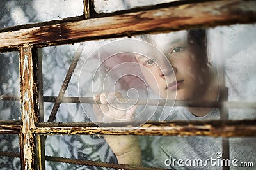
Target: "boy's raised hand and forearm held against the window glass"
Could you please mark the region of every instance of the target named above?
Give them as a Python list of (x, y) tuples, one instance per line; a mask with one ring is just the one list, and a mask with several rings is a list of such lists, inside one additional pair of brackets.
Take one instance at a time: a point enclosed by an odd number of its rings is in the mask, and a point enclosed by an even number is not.
[[(93, 104), (93, 110), (99, 122), (122, 122), (132, 120), (137, 106), (126, 109), (124, 104), (112, 104), (116, 98), (122, 98), (120, 92), (97, 94), (94, 100), (101, 104)], [(131, 135), (105, 135), (106, 142), (115, 153), (120, 164), (141, 164), (141, 149), (138, 136)]]

